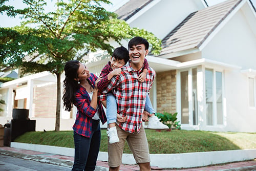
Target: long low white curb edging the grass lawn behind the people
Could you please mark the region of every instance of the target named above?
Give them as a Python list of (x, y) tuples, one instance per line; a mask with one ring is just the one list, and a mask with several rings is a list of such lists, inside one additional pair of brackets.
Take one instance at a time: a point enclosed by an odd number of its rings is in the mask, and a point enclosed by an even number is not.
[[(74, 157), (74, 148), (26, 144), (17, 142), (11, 142), (11, 147)], [(160, 168), (190, 168), (202, 167), (212, 164), (252, 160), (256, 158), (256, 149), (181, 154), (151, 154), (150, 157), (151, 166)], [(100, 152), (98, 160), (108, 161), (108, 153)], [(133, 155), (123, 154), (122, 164), (136, 164)]]

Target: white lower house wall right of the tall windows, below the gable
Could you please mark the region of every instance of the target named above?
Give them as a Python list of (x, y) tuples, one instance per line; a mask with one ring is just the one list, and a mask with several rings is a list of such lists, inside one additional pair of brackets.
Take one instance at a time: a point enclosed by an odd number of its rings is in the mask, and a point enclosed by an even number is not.
[(238, 70), (226, 71), (226, 131), (256, 132), (256, 109), (249, 107), (248, 94), (248, 77)]

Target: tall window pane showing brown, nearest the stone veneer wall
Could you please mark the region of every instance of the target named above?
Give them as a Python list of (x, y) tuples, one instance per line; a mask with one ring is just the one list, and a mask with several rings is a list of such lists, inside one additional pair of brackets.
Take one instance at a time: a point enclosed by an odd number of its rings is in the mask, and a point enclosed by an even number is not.
[(181, 123), (188, 124), (188, 71), (180, 73), (181, 77)]

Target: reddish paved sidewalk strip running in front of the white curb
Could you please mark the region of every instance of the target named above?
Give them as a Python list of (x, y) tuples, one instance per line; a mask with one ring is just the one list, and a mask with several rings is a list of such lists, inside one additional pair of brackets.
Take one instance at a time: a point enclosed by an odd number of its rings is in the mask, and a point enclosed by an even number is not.
[[(72, 167), (74, 157), (69, 156), (62, 156), (62, 155), (55, 155), (50, 153), (43, 153), (43, 152), (36, 152), (27, 149), (20, 149), (20, 148), (13, 148), (13, 147), (0, 147), (0, 154), (19, 157), (26, 160), (34, 160), (39, 161), (42, 163), (50, 163), (56, 164), (66, 167)], [(109, 170), (108, 162), (106, 161), (97, 161), (96, 171), (100, 170)], [(139, 170), (138, 165), (132, 164), (122, 164), (120, 170), (123, 171), (132, 171), (132, 170)], [(177, 169), (177, 168), (159, 168), (159, 167), (152, 167), (152, 170), (184, 170), (184, 171), (198, 171), (198, 170), (255, 170), (256, 171), (256, 160), (250, 161), (243, 161), (243, 162), (234, 162), (228, 164), (221, 164), (221, 165), (210, 165), (204, 167), (197, 167), (197, 168), (184, 168), (184, 169)]]

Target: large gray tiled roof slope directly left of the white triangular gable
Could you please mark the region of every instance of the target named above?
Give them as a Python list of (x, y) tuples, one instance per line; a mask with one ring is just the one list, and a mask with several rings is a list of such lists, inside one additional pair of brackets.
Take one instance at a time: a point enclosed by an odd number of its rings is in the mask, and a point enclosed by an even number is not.
[(189, 14), (162, 40), (160, 55), (199, 48), (242, 0), (229, 0)]

